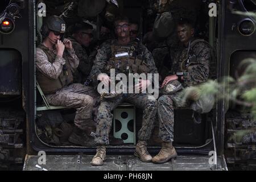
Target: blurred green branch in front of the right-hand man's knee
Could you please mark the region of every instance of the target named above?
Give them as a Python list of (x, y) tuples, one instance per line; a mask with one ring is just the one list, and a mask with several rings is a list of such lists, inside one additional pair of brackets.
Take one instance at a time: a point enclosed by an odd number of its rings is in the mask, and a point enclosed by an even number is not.
[(185, 99), (213, 94), (217, 100), (229, 100), (250, 109), (256, 118), (256, 59), (245, 59), (238, 66), (240, 77), (221, 78), (221, 82), (208, 80), (204, 84), (190, 86), (185, 90)]

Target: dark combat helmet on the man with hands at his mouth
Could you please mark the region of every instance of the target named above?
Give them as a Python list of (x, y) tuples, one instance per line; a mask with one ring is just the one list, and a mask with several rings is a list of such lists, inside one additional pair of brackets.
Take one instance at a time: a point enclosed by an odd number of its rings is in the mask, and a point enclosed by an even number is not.
[(49, 16), (40, 29), (43, 38), (46, 38), (49, 35), (49, 31), (56, 31), (64, 34), (66, 31), (65, 21), (59, 16)]

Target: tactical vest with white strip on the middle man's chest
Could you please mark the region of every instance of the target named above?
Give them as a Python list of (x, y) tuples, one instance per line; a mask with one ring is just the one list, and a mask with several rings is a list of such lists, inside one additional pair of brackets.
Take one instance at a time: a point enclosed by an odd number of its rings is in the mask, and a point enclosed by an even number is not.
[(115, 69), (115, 73), (148, 73), (147, 64), (138, 55), (138, 43), (132, 42), (128, 46), (111, 46), (111, 57), (105, 66), (105, 72)]

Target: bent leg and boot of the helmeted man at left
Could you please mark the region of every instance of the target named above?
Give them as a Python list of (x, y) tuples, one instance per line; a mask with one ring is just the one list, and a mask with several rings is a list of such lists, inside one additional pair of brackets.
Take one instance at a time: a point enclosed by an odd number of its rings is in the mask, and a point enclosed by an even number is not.
[(83, 85), (81, 84), (69, 85), (56, 94), (47, 96), (47, 99), (52, 105), (62, 105), (76, 109), (75, 127), (69, 137), (69, 142), (82, 146), (93, 146), (94, 141), (90, 137), (90, 131), (93, 130), (93, 98), (87, 94), (83, 94), (81, 92), (83, 89)]

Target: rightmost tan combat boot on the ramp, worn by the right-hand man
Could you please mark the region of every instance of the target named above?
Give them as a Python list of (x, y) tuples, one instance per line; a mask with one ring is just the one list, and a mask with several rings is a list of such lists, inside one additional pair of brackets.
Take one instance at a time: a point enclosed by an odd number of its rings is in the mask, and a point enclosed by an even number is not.
[(174, 146), (172, 146), (172, 142), (163, 142), (159, 154), (152, 158), (152, 162), (156, 164), (162, 164), (166, 163), (171, 158), (175, 158), (176, 156), (177, 153)]

